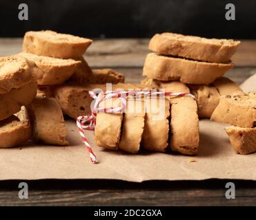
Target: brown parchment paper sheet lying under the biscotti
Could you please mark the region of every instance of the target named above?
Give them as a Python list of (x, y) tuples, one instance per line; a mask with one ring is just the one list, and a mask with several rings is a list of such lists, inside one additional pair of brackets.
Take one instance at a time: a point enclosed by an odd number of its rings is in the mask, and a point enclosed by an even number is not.
[[(256, 75), (242, 85), (256, 90)], [(256, 153), (237, 155), (224, 131), (225, 124), (200, 121), (199, 155), (142, 152), (130, 155), (108, 151), (86, 135), (99, 164), (90, 162), (75, 122), (66, 122), (70, 146), (33, 146), (0, 149), (0, 179), (122, 179), (126, 181), (252, 179), (256, 180)], [(196, 162), (190, 162), (194, 158)]]

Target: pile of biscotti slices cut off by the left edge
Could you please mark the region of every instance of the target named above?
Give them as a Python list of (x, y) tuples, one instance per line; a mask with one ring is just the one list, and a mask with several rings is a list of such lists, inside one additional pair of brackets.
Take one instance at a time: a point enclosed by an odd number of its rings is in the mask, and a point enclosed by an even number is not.
[[(21, 144), (30, 139), (28, 118), (19, 120), (14, 113), (32, 102), (37, 94), (33, 75), (41, 70), (35, 63), (19, 56), (0, 58), (0, 148)], [(22, 113), (19, 113), (22, 115)]]

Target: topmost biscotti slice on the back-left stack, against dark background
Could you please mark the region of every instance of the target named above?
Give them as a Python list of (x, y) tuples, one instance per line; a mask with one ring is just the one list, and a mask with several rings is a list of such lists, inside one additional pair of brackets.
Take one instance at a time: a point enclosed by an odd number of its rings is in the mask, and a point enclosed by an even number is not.
[(55, 58), (79, 58), (92, 43), (70, 34), (59, 34), (50, 30), (26, 32), (23, 39), (23, 52)]

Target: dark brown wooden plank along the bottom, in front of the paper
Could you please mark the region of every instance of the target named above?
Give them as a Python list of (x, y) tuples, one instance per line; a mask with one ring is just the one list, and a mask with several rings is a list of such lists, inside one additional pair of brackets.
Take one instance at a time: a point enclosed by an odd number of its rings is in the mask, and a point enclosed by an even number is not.
[(0, 206), (255, 206), (256, 189), (237, 190), (236, 199), (226, 199), (224, 189), (172, 190), (30, 190), (29, 199), (18, 192), (0, 192)]

